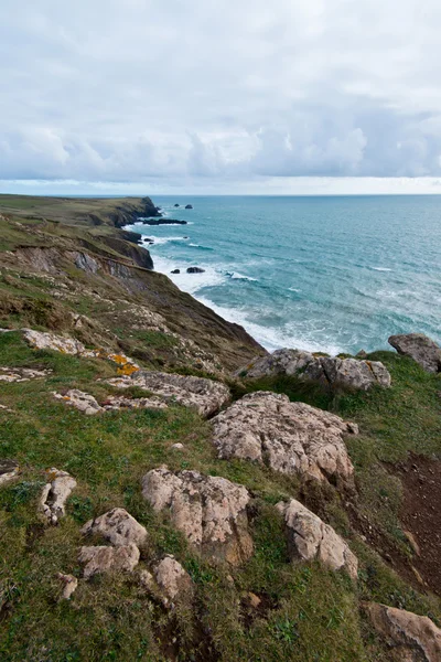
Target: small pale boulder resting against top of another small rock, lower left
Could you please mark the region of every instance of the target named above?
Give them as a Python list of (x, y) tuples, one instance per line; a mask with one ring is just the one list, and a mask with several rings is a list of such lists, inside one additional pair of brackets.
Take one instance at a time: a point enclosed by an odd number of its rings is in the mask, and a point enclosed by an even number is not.
[(125, 509), (114, 508), (108, 513), (89, 520), (83, 528), (83, 535), (101, 535), (116, 546), (135, 543), (142, 545), (147, 540), (147, 530)]

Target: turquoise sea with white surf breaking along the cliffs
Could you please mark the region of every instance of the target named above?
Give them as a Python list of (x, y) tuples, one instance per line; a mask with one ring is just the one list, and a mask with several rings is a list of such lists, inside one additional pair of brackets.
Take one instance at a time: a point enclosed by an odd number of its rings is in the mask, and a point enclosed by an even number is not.
[(155, 269), (269, 350), (355, 353), (410, 331), (441, 341), (441, 196), (154, 202), (189, 222), (131, 226)]

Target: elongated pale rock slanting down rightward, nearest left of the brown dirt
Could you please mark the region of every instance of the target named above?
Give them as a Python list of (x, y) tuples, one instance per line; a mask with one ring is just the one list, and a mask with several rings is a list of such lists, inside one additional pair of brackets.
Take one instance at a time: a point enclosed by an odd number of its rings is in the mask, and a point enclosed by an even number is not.
[(329, 524), (295, 499), (278, 503), (284, 517), (291, 558), (319, 559), (332, 570), (345, 569), (356, 579), (358, 560), (345, 541)]

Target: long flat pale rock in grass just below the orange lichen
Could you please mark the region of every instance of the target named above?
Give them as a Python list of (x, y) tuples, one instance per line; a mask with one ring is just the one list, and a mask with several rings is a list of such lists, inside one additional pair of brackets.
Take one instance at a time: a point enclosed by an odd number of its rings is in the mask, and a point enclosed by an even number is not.
[(108, 384), (119, 388), (138, 386), (166, 402), (195, 408), (202, 416), (218, 412), (229, 399), (229, 389), (220, 382), (171, 373), (139, 371), (130, 377), (115, 377)]

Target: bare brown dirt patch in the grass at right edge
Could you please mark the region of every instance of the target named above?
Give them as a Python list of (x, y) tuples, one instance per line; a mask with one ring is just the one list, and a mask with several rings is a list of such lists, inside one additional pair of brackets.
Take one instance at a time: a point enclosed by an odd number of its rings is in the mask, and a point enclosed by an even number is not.
[(441, 461), (411, 455), (398, 466), (404, 503), (400, 519), (416, 549), (413, 567), (441, 595)]

